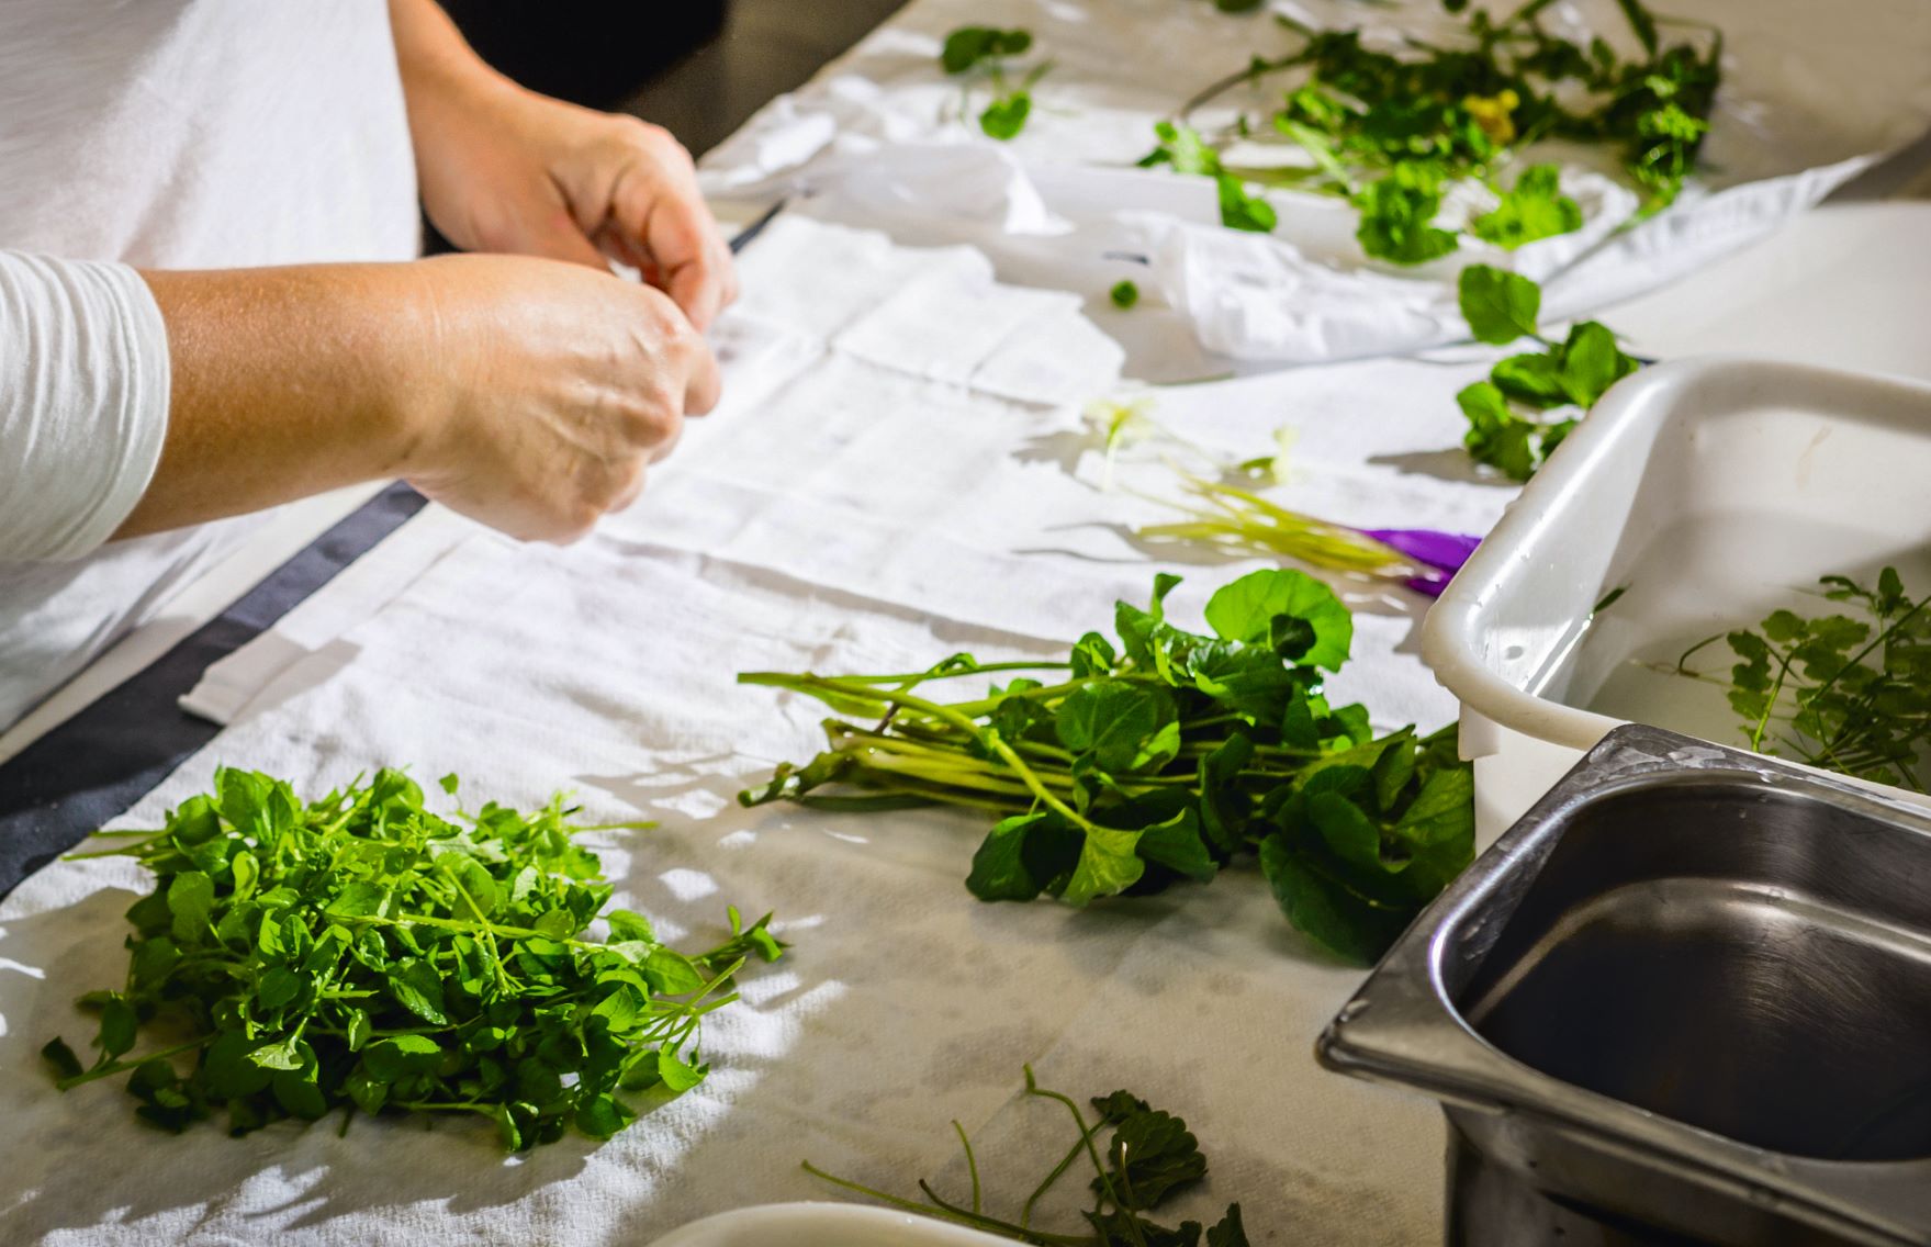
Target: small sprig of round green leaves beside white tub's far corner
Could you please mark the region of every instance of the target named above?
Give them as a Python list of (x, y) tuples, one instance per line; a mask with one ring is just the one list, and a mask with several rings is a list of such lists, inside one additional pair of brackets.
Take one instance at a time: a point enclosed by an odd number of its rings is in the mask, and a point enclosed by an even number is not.
[(1525, 276), (1471, 264), (1462, 270), (1460, 297), (1462, 317), (1479, 342), (1506, 346), (1531, 338), (1543, 346), (1502, 359), (1489, 380), (1456, 394), (1468, 417), (1462, 438), (1468, 454), (1512, 481), (1527, 481), (1581, 413), (1641, 365), (1597, 320), (1572, 326), (1562, 342), (1543, 338), (1535, 326), (1543, 291)]

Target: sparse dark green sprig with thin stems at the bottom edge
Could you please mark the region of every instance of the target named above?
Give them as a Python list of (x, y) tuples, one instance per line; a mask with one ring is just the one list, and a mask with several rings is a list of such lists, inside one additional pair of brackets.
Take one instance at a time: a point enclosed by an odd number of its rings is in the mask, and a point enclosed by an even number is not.
[[(1047, 1091), (1033, 1077), (1033, 1067), (1025, 1067), (1025, 1095), (1041, 1100), (1064, 1104), (1074, 1118), (1077, 1137), (1052, 1170), (1033, 1187), (1016, 1220), (1004, 1220), (985, 1212), (983, 1189), (979, 1183), (979, 1158), (973, 1154), (971, 1139), (958, 1122), (952, 1129), (966, 1149), (966, 1170), (971, 1174), (971, 1203), (948, 1201), (933, 1189), (931, 1181), (919, 1179), (925, 1201), (886, 1195), (873, 1187), (832, 1178), (809, 1160), (805, 1172), (848, 1191), (857, 1191), (879, 1203), (906, 1208), (921, 1216), (971, 1226), (1000, 1237), (1039, 1247), (1199, 1247), (1203, 1226), (1199, 1222), (1180, 1222), (1176, 1228), (1161, 1226), (1149, 1212), (1159, 1210), (1174, 1195), (1207, 1178), (1207, 1156), (1188, 1123), (1170, 1112), (1151, 1108), (1130, 1091), (1114, 1091), (1108, 1096), (1095, 1096), (1093, 1110), (1099, 1118), (1087, 1123), (1085, 1112), (1072, 1096)], [(1105, 1149), (1099, 1139), (1112, 1131)], [(1033, 1208), (1066, 1176), (1079, 1156), (1093, 1166), (1093, 1206), (1081, 1210), (1089, 1233), (1049, 1233), (1033, 1230)], [(1228, 1205), (1226, 1214), (1205, 1228), (1207, 1247), (1247, 1247), (1247, 1232), (1240, 1220), (1240, 1205)]]

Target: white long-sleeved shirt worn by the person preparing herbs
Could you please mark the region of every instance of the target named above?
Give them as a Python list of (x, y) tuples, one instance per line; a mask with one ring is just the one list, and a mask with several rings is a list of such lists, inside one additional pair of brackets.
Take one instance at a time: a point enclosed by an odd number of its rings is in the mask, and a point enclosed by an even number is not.
[(239, 527), (100, 544), (168, 417), (131, 266), (402, 261), (417, 222), (384, 0), (0, 4), (0, 728)]

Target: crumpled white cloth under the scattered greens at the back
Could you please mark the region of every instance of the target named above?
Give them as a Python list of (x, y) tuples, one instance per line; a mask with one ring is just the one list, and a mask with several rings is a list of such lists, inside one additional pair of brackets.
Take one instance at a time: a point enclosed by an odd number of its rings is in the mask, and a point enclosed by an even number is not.
[[(1439, 41), (1437, 0), (1363, 6), (1273, 0), (1267, 8), (1315, 27), (1361, 27), (1371, 44)], [(908, 243), (971, 243), (1002, 280), (1101, 297), (1118, 280), (1159, 290), (1166, 319), (1191, 330), (1201, 367), (1176, 334), (1145, 334), (1149, 301), (1095, 313), (1122, 336), (1135, 376), (1218, 373), (1247, 365), (1321, 363), (1413, 351), (1458, 338), (1454, 282), (1469, 263), (1545, 282), (1551, 319), (1574, 319), (1676, 280), (1734, 251), (1931, 127), (1931, 6), (1919, 0), (1686, 0), (1680, 37), (1695, 21), (1724, 31), (1724, 83), (1703, 172), (1653, 220), (1630, 224), (1637, 197), (1605, 174), (1607, 152), (1535, 154), (1562, 164), (1583, 228), (1514, 253), (1464, 237), (1419, 268), (1369, 263), (1356, 212), (1323, 195), (1273, 191), (1274, 234), (1220, 228), (1213, 183), (1130, 168), (1153, 147), (1153, 124), (1247, 58), (1280, 56), (1298, 37), (1265, 14), (1236, 17), (1168, 0), (917, 0), (803, 89), (763, 108), (705, 162), (714, 197), (774, 199), (801, 210), (888, 230)], [(1549, 19), (1626, 42), (1609, 0), (1556, 6)], [(1033, 31), (1035, 60), (1052, 69), (1033, 87), (1033, 112), (1012, 143), (977, 133), (975, 106), (940, 71), (938, 46), (958, 25)], [(1232, 91), (1199, 114), (1278, 98), (1267, 81)], [(985, 89), (975, 102), (983, 106)], [(1469, 205), (1462, 205), (1468, 210)], [(1454, 207), (1450, 207), (1450, 212)]]

